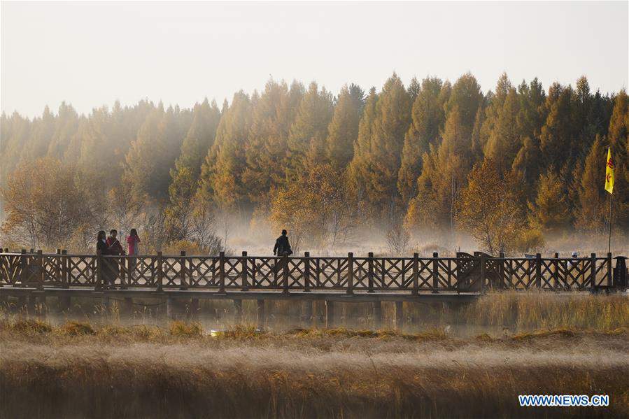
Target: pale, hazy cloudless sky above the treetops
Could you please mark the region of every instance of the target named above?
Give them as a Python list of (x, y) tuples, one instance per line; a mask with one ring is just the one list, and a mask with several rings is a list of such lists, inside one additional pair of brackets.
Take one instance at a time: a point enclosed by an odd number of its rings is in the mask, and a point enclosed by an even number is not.
[(380, 89), (393, 71), (483, 91), (502, 71), (544, 88), (628, 85), (628, 2), (1, 3), (1, 110), (62, 101), (190, 107), (276, 80)]

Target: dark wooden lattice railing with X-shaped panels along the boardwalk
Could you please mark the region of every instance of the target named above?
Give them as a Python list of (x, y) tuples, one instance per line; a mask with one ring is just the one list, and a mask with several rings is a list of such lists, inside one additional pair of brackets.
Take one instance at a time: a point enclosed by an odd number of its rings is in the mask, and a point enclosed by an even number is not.
[(0, 253), (0, 286), (142, 287), (163, 290), (482, 292), (612, 287), (612, 255), (598, 257), (319, 257)]

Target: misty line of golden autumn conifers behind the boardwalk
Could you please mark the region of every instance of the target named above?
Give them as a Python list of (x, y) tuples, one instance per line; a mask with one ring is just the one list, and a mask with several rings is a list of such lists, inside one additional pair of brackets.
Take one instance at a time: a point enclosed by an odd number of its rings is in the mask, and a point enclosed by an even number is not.
[(605, 234), (607, 147), (614, 225), (629, 232), (629, 101), (586, 77), (544, 90), (470, 73), (338, 94), (269, 80), (218, 106), (150, 101), (79, 115), (1, 116), (3, 241), (82, 248), (108, 225), (153, 249), (225, 247), (234, 224), (286, 227), (295, 247), (334, 249), (382, 230), (391, 251), (469, 234), (490, 251)]

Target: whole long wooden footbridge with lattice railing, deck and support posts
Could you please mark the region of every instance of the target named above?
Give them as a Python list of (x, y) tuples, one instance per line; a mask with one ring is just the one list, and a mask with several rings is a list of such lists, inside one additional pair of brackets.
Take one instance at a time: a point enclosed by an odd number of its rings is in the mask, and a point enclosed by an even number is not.
[[(624, 289), (626, 267), (605, 257), (455, 257), (76, 255), (22, 250), (0, 253), (0, 297), (35, 299), (118, 295), (191, 299), (297, 299), (302, 301), (469, 301), (489, 289), (589, 291)], [(333, 310), (330, 304), (330, 310)]]

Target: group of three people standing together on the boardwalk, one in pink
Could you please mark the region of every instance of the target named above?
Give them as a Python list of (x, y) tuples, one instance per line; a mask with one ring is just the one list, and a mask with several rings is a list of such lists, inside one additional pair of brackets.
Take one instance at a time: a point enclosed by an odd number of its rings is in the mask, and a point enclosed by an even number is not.
[[(138, 255), (140, 246), (140, 237), (136, 229), (131, 229), (129, 236), (127, 236), (127, 255)], [(106, 236), (104, 230), (101, 230), (97, 234), (96, 238), (96, 250), (99, 255), (103, 256), (121, 256), (125, 254), (125, 250), (122, 248), (122, 244), (118, 240), (118, 231), (111, 229), (109, 236)], [(135, 264), (135, 259), (129, 260), (131, 266), (129, 271), (132, 271)], [(103, 285), (114, 289), (115, 279), (120, 275), (120, 265), (118, 260), (112, 258), (105, 258), (103, 261)]]

